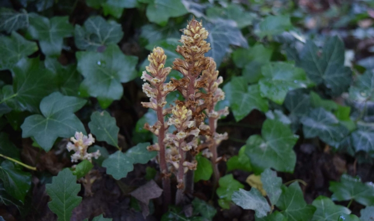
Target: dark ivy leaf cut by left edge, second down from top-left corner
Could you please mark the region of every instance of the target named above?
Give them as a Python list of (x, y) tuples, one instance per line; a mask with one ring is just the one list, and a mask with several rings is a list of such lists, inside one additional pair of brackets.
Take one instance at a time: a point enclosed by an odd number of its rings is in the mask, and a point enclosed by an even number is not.
[(0, 70), (5, 70), (12, 69), (18, 61), (37, 51), (38, 45), (12, 32), (10, 37), (0, 36), (0, 48)]

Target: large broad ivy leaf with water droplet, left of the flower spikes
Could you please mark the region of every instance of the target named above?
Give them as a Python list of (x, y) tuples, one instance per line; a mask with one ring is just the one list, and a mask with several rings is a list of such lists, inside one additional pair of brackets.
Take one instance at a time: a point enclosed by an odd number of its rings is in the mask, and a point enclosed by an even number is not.
[(79, 51), (78, 71), (84, 76), (81, 84), (88, 94), (97, 97), (102, 108), (123, 94), (121, 83), (136, 78), (138, 58), (126, 56), (117, 45), (108, 45), (104, 52)]

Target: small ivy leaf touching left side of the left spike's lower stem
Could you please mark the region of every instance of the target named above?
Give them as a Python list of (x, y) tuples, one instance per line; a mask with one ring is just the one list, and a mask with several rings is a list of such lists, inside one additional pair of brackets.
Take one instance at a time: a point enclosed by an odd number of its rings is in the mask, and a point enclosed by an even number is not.
[(147, 146), (151, 143), (138, 143), (136, 146), (126, 151), (126, 156), (133, 158), (135, 163), (147, 163), (149, 160), (157, 156), (157, 151), (148, 151)]

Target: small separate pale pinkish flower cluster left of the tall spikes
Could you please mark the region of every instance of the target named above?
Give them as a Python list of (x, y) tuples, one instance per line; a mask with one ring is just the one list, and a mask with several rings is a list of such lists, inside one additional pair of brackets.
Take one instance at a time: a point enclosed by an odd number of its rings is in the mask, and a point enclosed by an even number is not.
[(86, 136), (82, 132), (76, 132), (70, 140), (71, 142), (66, 145), (66, 149), (75, 152), (71, 155), (71, 162), (78, 162), (78, 160), (89, 160), (91, 162), (92, 158), (97, 159), (101, 156), (99, 150), (94, 153), (87, 153), (88, 146), (95, 143), (95, 138), (92, 137), (92, 134)]

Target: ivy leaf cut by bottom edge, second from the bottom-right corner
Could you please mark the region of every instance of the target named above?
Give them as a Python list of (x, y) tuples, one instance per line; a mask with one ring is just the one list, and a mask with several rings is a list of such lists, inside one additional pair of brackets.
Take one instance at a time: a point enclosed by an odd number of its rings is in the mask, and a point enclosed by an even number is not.
[(336, 221), (340, 214), (350, 214), (346, 207), (335, 205), (334, 202), (326, 197), (319, 196), (313, 200), (312, 205), (316, 208), (312, 221)]

